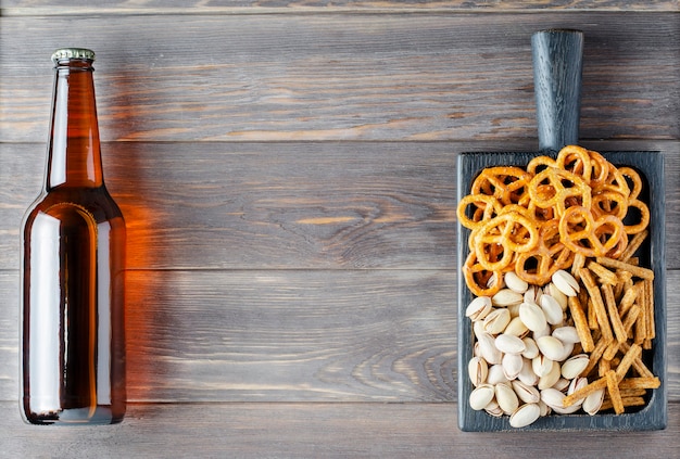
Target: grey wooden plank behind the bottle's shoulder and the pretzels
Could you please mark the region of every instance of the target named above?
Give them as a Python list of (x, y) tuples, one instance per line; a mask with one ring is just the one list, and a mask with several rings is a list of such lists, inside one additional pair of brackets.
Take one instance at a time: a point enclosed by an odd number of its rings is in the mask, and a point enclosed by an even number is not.
[[(680, 143), (587, 142), (666, 153), (667, 266), (680, 268)], [(400, 268), (455, 265), (458, 151), (533, 142), (139, 143), (103, 146), (128, 227), (129, 269)], [(38, 194), (43, 145), (0, 144), (0, 269)]]

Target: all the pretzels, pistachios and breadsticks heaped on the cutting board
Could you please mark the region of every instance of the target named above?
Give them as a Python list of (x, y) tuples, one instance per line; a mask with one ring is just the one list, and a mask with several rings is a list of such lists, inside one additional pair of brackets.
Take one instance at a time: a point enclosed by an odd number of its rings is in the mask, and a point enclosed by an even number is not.
[(576, 145), (475, 179), (457, 207), (476, 296), (470, 407), (526, 426), (646, 404), (660, 381), (642, 356), (655, 337), (654, 271), (635, 258), (642, 188), (634, 169)]

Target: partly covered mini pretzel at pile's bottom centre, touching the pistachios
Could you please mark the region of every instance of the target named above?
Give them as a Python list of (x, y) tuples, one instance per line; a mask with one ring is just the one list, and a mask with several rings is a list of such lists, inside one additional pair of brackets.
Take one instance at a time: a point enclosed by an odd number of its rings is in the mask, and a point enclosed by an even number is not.
[(537, 247), (517, 255), (515, 272), (526, 282), (543, 285), (558, 269), (571, 266), (574, 257), (575, 253), (559, 241), (558, 221), (550, 220), (539, 230)]

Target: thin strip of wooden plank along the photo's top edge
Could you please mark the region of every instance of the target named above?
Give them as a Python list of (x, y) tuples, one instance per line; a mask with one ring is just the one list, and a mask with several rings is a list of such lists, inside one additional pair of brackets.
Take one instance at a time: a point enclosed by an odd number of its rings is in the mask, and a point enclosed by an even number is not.
[(106, 1), (106, 7), (92, 7), (87, 1), (68, 0), (7, 0), (3, 1), (3, 14), (9, 15), (59, 15), (59, 14), (92, 14), (102, 10), (106, 14), (182, 14), (191, 13), (244, 13), (262, 11), (291, 11), (328, 12), (328, 11), (544, 11), (544, 10), (597, 10), (597, 11), (668, 11), (677, 12), (677, 0), (570, 0), (570, 1), (540, 1), (534, 0), (504, 0), (490, 2), (484, 0), (448, 0), (445, 2), (430, 0), (337, 0), (332, 3), (312, 2), (305, 0), (222, 0), (222, 1), (194, 1), (181, 0), (147, 0), (143, 2), (129, 2), (125, 0)]

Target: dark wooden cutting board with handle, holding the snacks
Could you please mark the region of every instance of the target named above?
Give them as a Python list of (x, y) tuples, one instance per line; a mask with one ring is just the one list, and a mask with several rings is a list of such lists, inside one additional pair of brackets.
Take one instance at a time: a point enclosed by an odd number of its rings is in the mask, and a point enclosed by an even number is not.
[[(555, 157), (567, 144), (578, 144), (583, 34), (578, 30), (542, 30), (532, 36), (538, 152), (461, 153), (457, 163), (458, 201), (469, 193), (477, 175), (486, 167), (525, 167), (537, 155)], [(615, 166), (629, 166), (643, 180), (641, 199), (650, 207), (650, 235), (639, 250), (641, 264), (654, 270), (656, 339), (645, 355), (650, 369), (662, 381), (647, 405), (624, 415), (551, 415), (519, 430), (659, 430), (667, 423), (666, 388), (666, 263), (664, 156), (660, 152), (601, 152)], [(493, 418), (469, 407), (473, 384), (467, 364), (473, 357), (473, 328), (465, 309), (473, 299), (462, 267), (468, 255), (469, 230), (457, 225), (458, 262), (458, 426), (463, 431), (517, 431), (508, 417)]]

